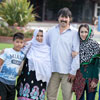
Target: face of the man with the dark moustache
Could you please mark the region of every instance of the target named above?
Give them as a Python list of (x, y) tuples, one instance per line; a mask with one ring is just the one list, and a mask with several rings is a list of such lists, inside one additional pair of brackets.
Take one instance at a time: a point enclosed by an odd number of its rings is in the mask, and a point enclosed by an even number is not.
[(70, 20), (71, 19), (70, 19), (69, 16), (65, 17), (65, 16), (60, 15), (59, 18), (58, 18), (58, 22), (59, 22), (61, 27), (66, 27), (67, 25), (69, 25)]

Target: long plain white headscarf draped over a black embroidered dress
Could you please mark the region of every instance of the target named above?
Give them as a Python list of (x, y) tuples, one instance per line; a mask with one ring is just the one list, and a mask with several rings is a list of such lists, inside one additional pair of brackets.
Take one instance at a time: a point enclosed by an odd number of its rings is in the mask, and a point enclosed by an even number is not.
[(34, 31), (34, 37), (31, 40), (31, 48), (27, 53), (29, 71), (36, 72), (36, 79), (48, 82), (51, 77), (50, 47), (45, 42), (43, 33), (43, 42), (36, 40), (39, 30)]

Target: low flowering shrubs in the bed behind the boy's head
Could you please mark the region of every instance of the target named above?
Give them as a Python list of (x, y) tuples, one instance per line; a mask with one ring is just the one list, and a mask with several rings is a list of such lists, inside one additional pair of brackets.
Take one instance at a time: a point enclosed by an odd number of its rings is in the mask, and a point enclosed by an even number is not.
[(22, 32), (24, 33), (26, 38), (32, 38), (34, 30), (27, 29), (25, 27), (7, 27), (7, 26), (1, 26), (0, 27), (0, 36), (13, 36), (16, 32)]

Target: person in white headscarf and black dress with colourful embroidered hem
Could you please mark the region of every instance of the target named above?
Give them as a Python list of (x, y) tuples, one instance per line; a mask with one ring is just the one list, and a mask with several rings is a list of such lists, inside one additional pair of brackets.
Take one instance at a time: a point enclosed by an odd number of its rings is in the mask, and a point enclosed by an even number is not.
[[(46, 85), (51, 76), (50, 47), (46, 45), (45, 34), (35, 30), (34, 37), (28, 45), (30, 50), (17, 86), (18, 100), (44, 100)], [(28, 46), (26, 46), (23, 50)], [(18, 81), (19, 82), (19, 81)]]

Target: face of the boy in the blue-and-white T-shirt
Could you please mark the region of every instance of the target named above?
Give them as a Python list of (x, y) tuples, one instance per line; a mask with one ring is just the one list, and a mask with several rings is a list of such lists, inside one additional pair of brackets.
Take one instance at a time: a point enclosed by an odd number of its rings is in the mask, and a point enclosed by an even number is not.
[(14, 50), (20, 51), (24, 46), (24, 40), (16, 39), (13, 41), (13, 44), (14, 44)]

